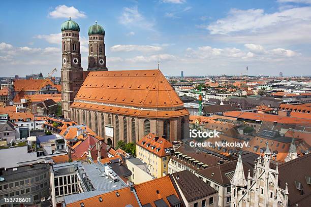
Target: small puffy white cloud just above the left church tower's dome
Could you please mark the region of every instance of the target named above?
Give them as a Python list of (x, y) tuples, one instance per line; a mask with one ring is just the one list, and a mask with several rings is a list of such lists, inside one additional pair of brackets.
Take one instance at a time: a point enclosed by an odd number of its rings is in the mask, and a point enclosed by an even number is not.
[(84, 12), (77, 10), (74, 7), (67, 7), (66, 5), (59, 5), (55, 8), (54, 11), (50, 12), (49, 17), (51, 18), (85, 18), (86, 15)]

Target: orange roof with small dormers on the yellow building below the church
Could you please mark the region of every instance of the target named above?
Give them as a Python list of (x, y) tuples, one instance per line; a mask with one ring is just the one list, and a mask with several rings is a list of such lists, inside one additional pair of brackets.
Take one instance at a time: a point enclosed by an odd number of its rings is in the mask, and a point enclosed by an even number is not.
[[(170, 154), (167, 154), (165, 152), (165, 149), (170, 149), (173, 147), (173, 145), (166, 139), (159, 137), (158, 141), (155, 141), (155, 136), (152, 133), (148, 133), (146, 136), (144, 136), (140, 141), (136, 143), (136, 145), (148, 150), (149, 152), (152, 152), (153, 154), (164, 157), (168, 156)], [(150, 144), (147, 147), (147, 144)], [(153, 147), (153, 149), (151, 149)], [(158, 148), (160, 150), (158, 150)], [(170, 152), (169, 152), (170, 153)]]

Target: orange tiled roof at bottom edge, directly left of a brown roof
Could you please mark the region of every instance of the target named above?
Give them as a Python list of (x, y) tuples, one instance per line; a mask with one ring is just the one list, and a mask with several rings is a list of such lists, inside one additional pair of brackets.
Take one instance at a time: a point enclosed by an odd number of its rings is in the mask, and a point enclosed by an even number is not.
[[(167, 200), (167, 196), (175, 194), (178, 198), (178, 194), (169, 176), (135, 185), (135, 190), (141, 204), (145, 205), (150, 203), (152, 207), (156, 207), (154, 204), (155, 200), (162, 198), (167, 203), (167, 205), (170, 206), (170, 203)], [(179, 198), (179, 200), (182, 199)]]

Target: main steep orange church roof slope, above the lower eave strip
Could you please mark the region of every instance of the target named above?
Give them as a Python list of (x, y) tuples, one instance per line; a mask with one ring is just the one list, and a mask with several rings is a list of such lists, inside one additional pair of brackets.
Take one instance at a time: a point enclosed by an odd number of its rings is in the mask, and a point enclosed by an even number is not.
[(87, 100), (133, 107), (182, 107), (160, 70), (90, 72), (75, 101)]

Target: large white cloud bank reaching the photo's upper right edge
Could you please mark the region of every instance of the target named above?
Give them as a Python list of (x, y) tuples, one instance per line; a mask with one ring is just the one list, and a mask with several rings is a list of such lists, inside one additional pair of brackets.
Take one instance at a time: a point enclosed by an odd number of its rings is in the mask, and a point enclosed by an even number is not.
[(293, 44), (311, 42), (310, 21), (311, 7), (285, 8), (274, 13), (231, 9), (227, 17), (199, 27), (208, 29), (211, 38), (221, 41)]

